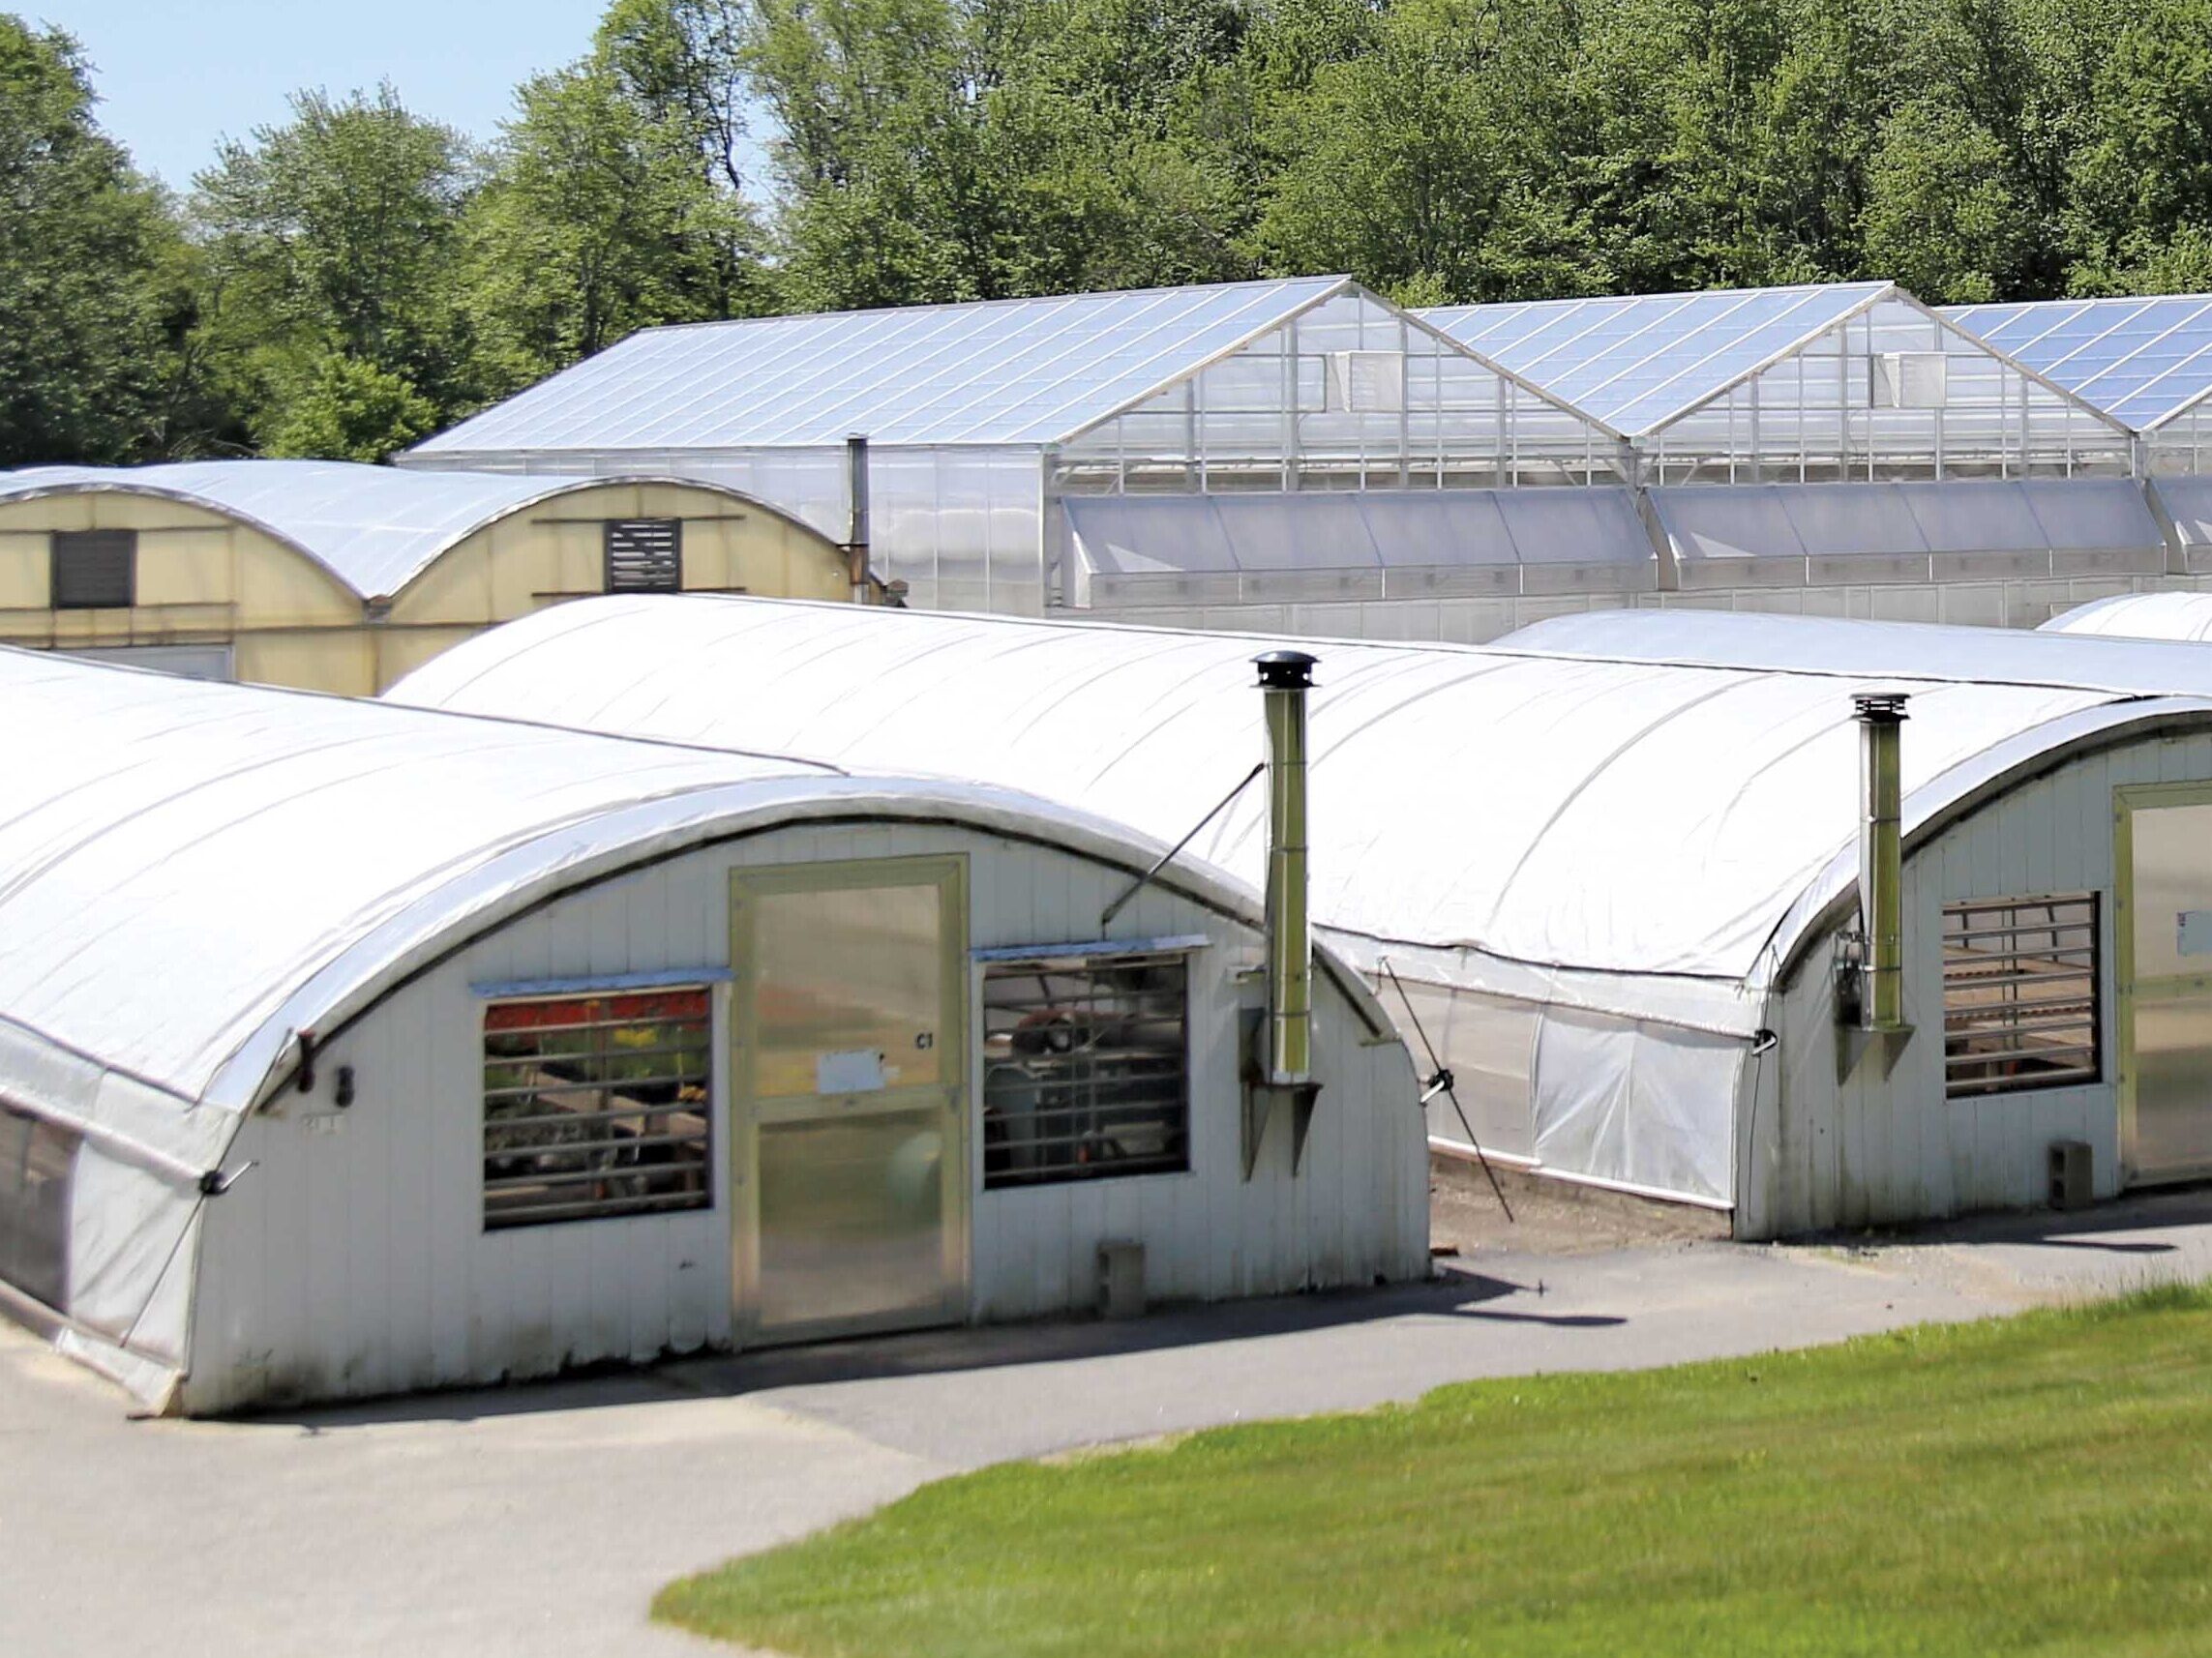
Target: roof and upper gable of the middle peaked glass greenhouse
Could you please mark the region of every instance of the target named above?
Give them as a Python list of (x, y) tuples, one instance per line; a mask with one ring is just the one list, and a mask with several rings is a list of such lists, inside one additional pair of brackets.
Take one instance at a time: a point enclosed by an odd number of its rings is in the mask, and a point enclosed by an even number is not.
[(2132, 471), (2124, 424), (1896, 283), (1418, 314), (1628, 438), (1644, 484)]

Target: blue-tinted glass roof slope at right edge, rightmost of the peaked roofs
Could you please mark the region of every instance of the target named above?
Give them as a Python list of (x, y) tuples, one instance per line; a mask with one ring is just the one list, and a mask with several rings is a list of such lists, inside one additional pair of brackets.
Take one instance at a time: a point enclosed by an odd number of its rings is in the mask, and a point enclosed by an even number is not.
[(1944, 314), (2135, 431), (2212, 393), (2212, 294), (1953, 305)]

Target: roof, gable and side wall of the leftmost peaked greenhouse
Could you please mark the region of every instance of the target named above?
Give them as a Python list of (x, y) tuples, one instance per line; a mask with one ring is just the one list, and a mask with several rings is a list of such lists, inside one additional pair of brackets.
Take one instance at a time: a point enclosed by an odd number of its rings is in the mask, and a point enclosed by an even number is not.
[[(1343, 276), (646, 329), (400, 458), (708, 478), (914, 604), (1064, 601), (1062, 502), (1621, 482), (1621, 444)], [(1172, 553), (1168, 553), (1172, 557)]]

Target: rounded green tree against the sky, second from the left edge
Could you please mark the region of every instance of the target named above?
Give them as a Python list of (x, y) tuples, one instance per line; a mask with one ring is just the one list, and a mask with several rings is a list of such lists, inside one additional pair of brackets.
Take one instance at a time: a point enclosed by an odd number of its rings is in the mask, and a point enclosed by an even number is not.
[(458, 265), (476, 159), (458, 133), (392, 86), (310, 91), (195, 183), (201, 327), (261, 442), (330, 431), (294, 405), (363, 385), (363, 369), (434, 420), (473, 407)]

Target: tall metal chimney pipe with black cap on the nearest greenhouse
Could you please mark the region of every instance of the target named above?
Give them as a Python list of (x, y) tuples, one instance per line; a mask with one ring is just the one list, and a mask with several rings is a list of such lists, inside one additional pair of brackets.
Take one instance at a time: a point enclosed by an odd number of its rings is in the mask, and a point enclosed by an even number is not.
[(1314, 659), (1303, 650), (1256, 657), (1267, 707), (1267, 1057), (1265, 1079), (1305, 1083), (1314, 1070), (1314, 940), (1305, 869), (1305, 692)]

